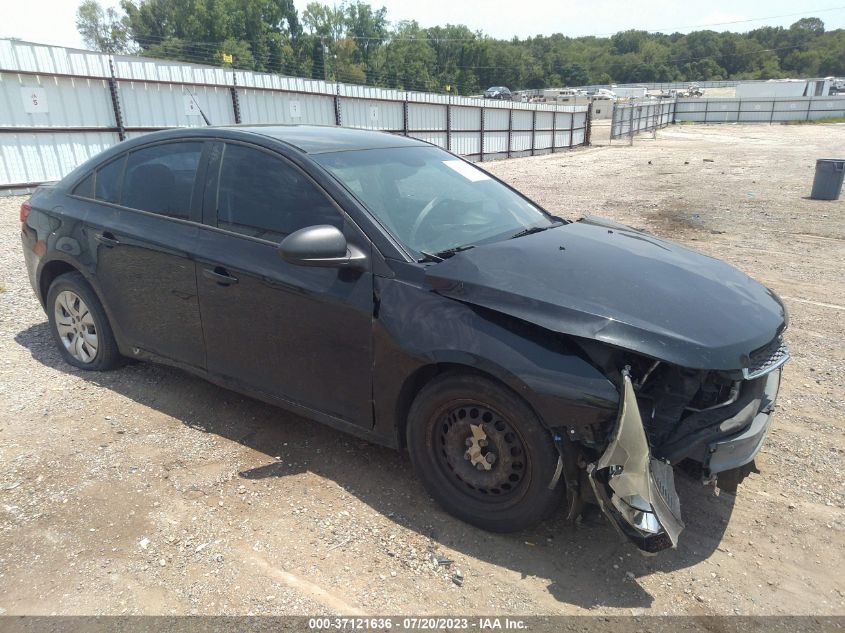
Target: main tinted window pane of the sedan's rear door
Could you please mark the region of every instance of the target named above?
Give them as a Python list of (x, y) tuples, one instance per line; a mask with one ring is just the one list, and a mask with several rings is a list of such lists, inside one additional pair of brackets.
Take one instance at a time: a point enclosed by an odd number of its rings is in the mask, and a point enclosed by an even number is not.
[(132, 209), (188, 219), (201, 141), (161, 143), (129, 154), (121, 204)]

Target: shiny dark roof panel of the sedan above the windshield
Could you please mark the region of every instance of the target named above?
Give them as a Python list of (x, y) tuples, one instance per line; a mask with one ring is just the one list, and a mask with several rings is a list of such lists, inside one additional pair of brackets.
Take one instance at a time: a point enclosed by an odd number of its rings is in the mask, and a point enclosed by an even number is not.
[(330, 125), (238, 125), (222, 129), (267, 136), (292, 145), (306, 154), (428, 146), (427, 143), (398, 134)]

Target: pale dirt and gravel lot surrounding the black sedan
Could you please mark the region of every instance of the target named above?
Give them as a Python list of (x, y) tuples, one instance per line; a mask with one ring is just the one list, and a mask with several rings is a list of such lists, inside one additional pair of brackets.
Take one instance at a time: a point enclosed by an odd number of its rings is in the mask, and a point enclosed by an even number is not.
[(0, 613), (845, 614), (845, 201), (805, 198), (843, 146), (842, 125), (677, 126), (489, 165), (564, 216), (724, 258), (791, 312), (761, 472), (736, 496), (679, 475), (687, 529), (653, 558), (600, 516), (469, 527), (404, 456), (177, 370), (72, 369), (21, 199), (0, 200)]

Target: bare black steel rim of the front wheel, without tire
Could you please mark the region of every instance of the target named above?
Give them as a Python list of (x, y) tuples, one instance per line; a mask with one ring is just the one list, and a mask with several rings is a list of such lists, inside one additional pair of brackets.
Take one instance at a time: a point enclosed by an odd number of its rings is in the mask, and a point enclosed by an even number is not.
[(493, 409), (467, 402), (434, 426), (438, 465), (461, 492), (487, 500), (521, 494), (526, 452), (519, 434)]

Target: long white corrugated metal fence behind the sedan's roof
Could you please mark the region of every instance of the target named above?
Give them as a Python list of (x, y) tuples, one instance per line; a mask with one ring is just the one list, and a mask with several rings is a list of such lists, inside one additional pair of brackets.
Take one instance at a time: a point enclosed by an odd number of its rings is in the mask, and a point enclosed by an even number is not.
[(589, 144), (587, 106), (514, 103), (0, 40), (0, 191), (56, 180), (169, 127), (309, 123), (413, 136), (472, 160)]

